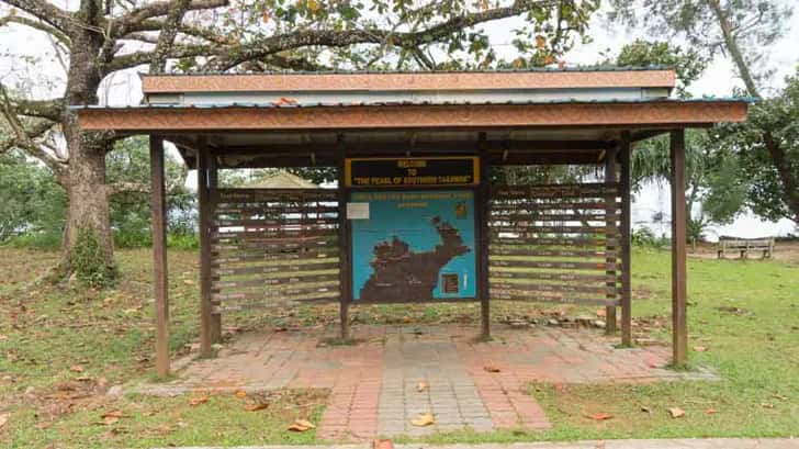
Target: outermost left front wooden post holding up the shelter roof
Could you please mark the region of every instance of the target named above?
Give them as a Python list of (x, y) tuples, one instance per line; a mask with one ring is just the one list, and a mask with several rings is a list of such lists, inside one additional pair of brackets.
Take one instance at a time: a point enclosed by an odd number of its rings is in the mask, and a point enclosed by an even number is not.
[(156, 372), (169, 375), (169, 291), (167, 284), (167, 201), (164, 139), (149, 137), (150, 210), (153, 212), (153, 287), (156, 300)]

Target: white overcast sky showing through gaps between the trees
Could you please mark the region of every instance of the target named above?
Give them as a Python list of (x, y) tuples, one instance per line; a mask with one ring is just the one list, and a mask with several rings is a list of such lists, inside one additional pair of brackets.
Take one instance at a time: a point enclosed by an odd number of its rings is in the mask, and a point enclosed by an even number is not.
[[(7, 12), (7, 9), (0, 8), (0, 15), (4, 15)], [(486, 26), (492, 44), (500, 55), (510, 56), (514, 52), (510, 45), (514, 22), (515, 20), (503, 21)], [(600, 53), (616, 54), (619, 48), (635, 37), (646, 37), (640, 33), (629, 33), (621, 27), (609, 30), (601, 14), (592, 21), (589, 34), (593, 43), (577, 45), (564, 58), (567, 65), (595, 64), (601, 59)], [(784, 85), (785, 76), (796, 71), (797, 64), (799, 64), (797, 43), (799, 43), (799, 11), (787, 22), (786, 36), (770, 49), (768, 64), (776, 69), (776, 72), (768, 82), (767, 92), (779, 89)], [(41, 33), (20, 26), (0, 29), (0, 78), (5, 82), (13, 79), (33, 79), (35, 82), (29, 88), (37, 97), (59, 92), (63, 89), (64, 74), (58, 61), (53, 57), (53, 52), (48, 48), (50, 45)], [(25, 56), (42, 57), (42, 63), (32, 69), (26, 69), (25, 67), (30, 66), (20, 59)], [(106, 85), (111, 90), (108, 100), (106, 96), (102, 94), (103, 102), (136, 104), (140, 101), (140, 86), (135, 70), (116, 74)], [(733, 87), (741, 85), (734, 75), (731, 61), (720, 55), (711, 63), (704, 76), (690, 87), (690, 91), (698, 97), (727, 97), (732, 93)], [(191, 181), (193, 183), (193, 179)], [(667, 186), (651, 186), (635, 199), (633, 221), (648, 222), (652, 214), (665, 212), (667, 215), (669, 210)], [(754, 237), (786, 234), (792, 231), (795, 231), (792, 223), (787, 220), (780, 223), (766, 223), (752, 215), (745, 215), (731, 226), (713, 229), (710, 237), (716, 235)]]

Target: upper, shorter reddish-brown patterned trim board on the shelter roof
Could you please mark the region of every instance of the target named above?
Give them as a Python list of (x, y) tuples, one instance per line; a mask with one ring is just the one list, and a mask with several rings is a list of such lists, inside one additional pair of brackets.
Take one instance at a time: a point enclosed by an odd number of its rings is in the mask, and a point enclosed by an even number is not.
[(385, 74), (166, 75), (142, 77), (142, 90), (183, 92), (458, 91), (502, 89), (674, 88), (673, 69)]

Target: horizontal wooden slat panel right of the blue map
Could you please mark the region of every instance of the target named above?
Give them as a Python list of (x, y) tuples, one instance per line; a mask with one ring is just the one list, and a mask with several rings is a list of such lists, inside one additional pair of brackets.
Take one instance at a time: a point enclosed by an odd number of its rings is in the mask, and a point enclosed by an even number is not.
[[(488, 220), (492, 299), (616, 305), (619, 193), (618, 183), (604, 182), (494, 189)], [(578, 234), (584, 236), (569, 236)]]

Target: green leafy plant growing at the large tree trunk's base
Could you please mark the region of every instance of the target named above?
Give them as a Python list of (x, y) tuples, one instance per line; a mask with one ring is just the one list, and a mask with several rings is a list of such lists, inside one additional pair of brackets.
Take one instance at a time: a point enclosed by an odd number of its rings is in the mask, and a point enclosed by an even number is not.
[(116, 278), (116, 267), (105, 262), (100, 240), (94, 231), (88, 227), (78, 229), (69, 265), (78, 280), (89, 287), (110, 287)]

